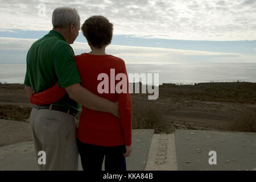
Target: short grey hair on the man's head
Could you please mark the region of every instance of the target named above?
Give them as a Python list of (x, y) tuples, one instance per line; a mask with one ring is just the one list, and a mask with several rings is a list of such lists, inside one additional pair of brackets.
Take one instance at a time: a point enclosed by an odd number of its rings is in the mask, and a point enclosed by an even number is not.
[(66, 28), (69, 24), (75, 23), (75, 27), (79, 26), (80, 16), (77, 10), (72, 7), (57, 7), (52, 13), (52, 26)]

